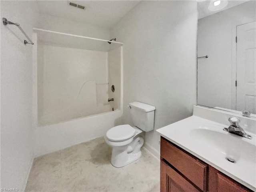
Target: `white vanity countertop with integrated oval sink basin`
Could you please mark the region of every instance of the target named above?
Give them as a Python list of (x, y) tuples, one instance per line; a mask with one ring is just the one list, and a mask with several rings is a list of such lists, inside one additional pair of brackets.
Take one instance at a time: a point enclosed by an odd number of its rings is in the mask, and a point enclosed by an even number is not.
[[(256, 191), (256, 140), (223, 131), (228, 125), (198, 116), (156, 130), (160, 135), (244, 186)], [(236, 160), (231, 163), (226, 157)]]

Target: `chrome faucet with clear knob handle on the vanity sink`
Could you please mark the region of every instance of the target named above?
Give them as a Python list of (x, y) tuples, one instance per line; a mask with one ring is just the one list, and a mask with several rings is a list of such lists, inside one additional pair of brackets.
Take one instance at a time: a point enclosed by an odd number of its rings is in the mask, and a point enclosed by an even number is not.
[(246, 132), (244, 131), (244, 129), (242, 127), (240, 127), (240, 125), (238, 124), (240, 122), (240, 120), (236, 117), (230, 117), (228, 118), (228, 121), (231, 123), (231, 125), (228, 128), (223, 128), (224, 131), (248, 138), (248, 139), (252, 139), (252, 136), (246, 134)]

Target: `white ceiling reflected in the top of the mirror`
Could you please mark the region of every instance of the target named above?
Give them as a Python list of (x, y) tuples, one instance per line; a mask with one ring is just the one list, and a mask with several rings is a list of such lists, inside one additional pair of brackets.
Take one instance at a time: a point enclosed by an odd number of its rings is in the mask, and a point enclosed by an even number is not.
[(214, 13), (223, 11), (225, 9), (237, 6), (237, 5), (242, 4), (244, 2), (247, 2), (247, 1), (248, 0), (228, 0), (228, 5), (225, 8), (223, 8), (222, 10), (218, 10), (218, 11), (210, 11), (208, 9), (208, 6), (211, 2), (210, 0), (198, 2), (198, 19), (201, 19), (203, 17), (206, 17), (206, 16), (212, 15)]

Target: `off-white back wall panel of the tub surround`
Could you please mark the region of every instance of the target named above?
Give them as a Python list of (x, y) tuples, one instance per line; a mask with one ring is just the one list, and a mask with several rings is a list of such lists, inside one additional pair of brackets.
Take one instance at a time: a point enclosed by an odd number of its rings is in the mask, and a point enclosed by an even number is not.
[(110, 110), (108, 52), (40, 46), (43, 48), (37, 54), (38, 126)]

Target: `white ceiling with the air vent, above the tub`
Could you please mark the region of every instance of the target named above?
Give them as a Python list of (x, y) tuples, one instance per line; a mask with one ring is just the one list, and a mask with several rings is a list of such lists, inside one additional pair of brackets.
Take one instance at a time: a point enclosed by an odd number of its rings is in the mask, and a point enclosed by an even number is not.
[[(100, 27), (111, 28), (127, 12), (129, 12), (139, 0), (40, 0), (36, 1), (42, 14), (49, 14), (61, 18), (84, 22)], [(86, 7), (86, 10), (72, 7), (73, 2)]]

